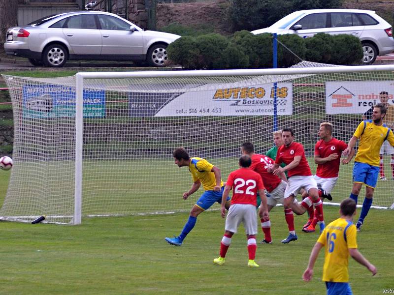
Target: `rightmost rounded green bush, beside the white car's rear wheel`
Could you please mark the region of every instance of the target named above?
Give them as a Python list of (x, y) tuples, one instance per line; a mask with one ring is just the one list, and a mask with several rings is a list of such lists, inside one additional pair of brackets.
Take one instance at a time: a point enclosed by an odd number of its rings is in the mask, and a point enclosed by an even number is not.
[(359, 64), (362, 59), (362, 45), (358, 37), (353, 35), (334, 35), (332, 44), (332, 64)]

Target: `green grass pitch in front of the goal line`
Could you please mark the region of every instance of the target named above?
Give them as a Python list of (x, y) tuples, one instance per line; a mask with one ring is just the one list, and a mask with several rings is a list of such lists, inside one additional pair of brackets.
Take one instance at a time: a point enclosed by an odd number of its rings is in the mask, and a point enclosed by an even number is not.
[[(0, 197), (9, 172), (1, 171)], [(1, 200), (0, 200), (1, 201)], [(179, 202), (185, 202), (179, 199)], [(188, 201), (186, 201), (188, 202)], [(190, 207), (193, 201), (189, 202)], [(337, 218), (338, 207), (325, 207), (325, 219)], [(179, 234), (188, 213), (83, 218), (79, 226), (1, 222), (4, 270), (0, 294), (324, 294), (323, 252), (312, 282), (301, 276), (318, 234), (300, 231), (305, 216), (296, 216), (298, 240), (287, 236), (283, 208), (271, 212), (271, 245), (258, 245), (260, 268), (248, 268), (242, 226), (225, 266), (215, 266), (224, 219), (218, 211), (202, 213), (181, 247), (164, 241)], [(371, 209), (358, 235), (361, 253), (378, 268), (372, 277), (350, 259), (354, 294), (381, 294), (393, 288), (394, 214)], [(258, 240), (263, 238), (259, 230)]]

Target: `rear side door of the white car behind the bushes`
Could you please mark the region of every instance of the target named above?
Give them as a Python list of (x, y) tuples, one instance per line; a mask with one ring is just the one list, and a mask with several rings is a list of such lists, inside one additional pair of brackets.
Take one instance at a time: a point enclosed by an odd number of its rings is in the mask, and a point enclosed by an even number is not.
[(360, 37), (365, 27), (356, 13), (330, 13), (330, 21), (331, 28), (329, 29), (329, 33), (331, 35), (350, 34)]

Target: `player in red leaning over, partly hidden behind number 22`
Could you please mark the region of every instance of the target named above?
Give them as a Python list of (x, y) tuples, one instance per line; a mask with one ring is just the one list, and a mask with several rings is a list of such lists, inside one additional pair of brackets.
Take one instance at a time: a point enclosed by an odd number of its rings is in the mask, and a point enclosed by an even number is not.
[[(241, 146), (241, 151), (243, 154), (249, 155), (252, 158), (252, 165), (250, 166), (250, 169), (260, 174), (263, 179), (264, 187), (269, 193), (269, 195), (267, 195), (268, 212), (271, 211), (271, 209), (278, 203), (284, 205), (284, 195), (287, 185), (286, 175), (282, 173), (280, 174), (280, 178), (273, 175), (272, 167), (275, 163), (274, 160), (266, 155), (256, 154), (251, 142), (244, 142)], [(292, 212), (292, 208), (296, 213), (305, 212), (305, 209), (302, 209), (302, 207), (298, 205), (296, 199), (294, 199), (290, 210), (288, 210), (288, 207), (285, 207), (285, 217), (290, 232), (294, 231), (294, 217), (293, 219), (289, 218), (289, 214), (287, 213)], [(260, 214), (260, 221), (264, 233), (264, 239), (261, 243), (271, 244), (271, 221), (269, 220), (269, 217), (264, 218), (262, 214)]]

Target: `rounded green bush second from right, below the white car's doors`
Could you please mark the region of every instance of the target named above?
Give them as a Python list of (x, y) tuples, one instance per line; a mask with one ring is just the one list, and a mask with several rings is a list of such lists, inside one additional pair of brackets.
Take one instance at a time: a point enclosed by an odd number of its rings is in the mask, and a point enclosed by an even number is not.
[(311, 38), (306, 38), (306, 59), (309, 61), (330, 63), (333, 43), (333, 36), (326, 33), (318, 33)]

